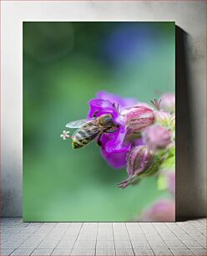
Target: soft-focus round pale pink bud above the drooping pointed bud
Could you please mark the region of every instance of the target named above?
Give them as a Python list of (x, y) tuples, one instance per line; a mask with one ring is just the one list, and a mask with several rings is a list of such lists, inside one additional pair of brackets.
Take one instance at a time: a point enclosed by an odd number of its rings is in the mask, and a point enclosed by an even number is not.
[(164, 149), (171, 142), (171, 134), (161, 125), (152, 125), (143, 133), (144, 142), (150, 150)]

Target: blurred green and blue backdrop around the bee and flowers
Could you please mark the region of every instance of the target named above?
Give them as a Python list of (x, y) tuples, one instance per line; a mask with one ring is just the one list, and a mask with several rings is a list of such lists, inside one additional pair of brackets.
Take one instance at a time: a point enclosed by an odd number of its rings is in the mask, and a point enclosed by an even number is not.
[(140, 101), (174, 92), (174, 23), (23, 23), (23, 220), (132, 221), (159, 198), (156, 178), (124, 190), (91, 143), (60, 134), (107, 90)]

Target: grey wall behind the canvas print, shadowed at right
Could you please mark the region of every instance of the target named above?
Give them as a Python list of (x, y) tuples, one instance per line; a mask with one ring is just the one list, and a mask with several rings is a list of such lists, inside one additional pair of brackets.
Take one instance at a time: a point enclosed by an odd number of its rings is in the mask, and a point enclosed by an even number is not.
[(202, 1), (2, 3), (3, 216), (22, 215), (22, 22), (175, 21), (177, 93), (176, 214), (205, 215), (205, 3)]

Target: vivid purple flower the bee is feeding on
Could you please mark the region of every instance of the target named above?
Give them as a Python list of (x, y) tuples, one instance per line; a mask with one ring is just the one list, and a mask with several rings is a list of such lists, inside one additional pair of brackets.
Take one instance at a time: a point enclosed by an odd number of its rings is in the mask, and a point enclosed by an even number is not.
[(124, 167), (126, 165), (126, 155), (132, 143), (124, 141), (127, 134), (127, 127), (125, 125), (125, 117), (121, 115), (124, 108), (132, 106), (137, 103), (137, 100), (131, 98), (121, 98), (119, 95), (109, 94), (101, 91), (97, 94), (98, 98), (92, 99), (88, 102), (89, 112), (88, 118), (100, 116), (104, 114), (111, 114), (115, 125), (118, 128), (113, 133), (105, 133), (101, 136), (101, 152), (109, 165), (114, 168)]

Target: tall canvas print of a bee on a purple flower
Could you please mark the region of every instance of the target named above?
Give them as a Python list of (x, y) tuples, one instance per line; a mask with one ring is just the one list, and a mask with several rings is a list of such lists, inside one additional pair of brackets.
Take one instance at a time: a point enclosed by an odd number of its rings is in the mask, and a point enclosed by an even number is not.
[(23, 23), (23, 220), (175, 220), (174, 22)]

